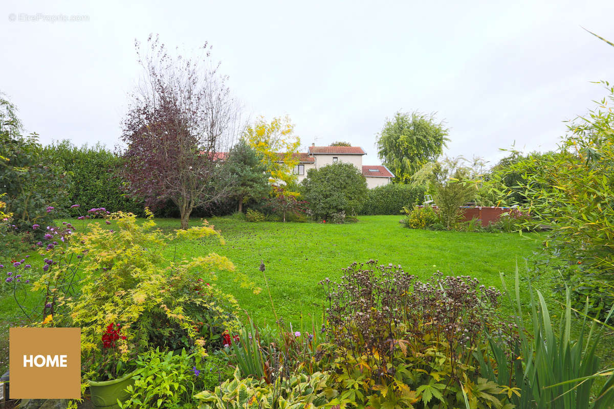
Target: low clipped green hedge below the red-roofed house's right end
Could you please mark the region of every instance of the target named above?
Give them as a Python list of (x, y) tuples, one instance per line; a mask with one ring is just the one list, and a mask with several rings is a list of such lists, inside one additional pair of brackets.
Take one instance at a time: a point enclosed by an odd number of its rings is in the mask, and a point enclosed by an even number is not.
[(400, 215), (403, 206), (413, 207), (424, 201), (425, 188), (422, 186), (389, 183), (386, 186), (369, 189), (362, 215)]

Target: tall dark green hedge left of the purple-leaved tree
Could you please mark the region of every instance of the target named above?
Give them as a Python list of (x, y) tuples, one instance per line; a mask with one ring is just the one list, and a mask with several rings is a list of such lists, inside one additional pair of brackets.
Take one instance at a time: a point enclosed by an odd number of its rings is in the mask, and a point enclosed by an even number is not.
[(109, 212), (123, 210), (144, 216), (142, 202), (134, 201), (122, 191), (123, 180), (117, 172), (122, 166), (122, 159), (112, 151), (99, 144), (77, 148), (64, 140), (46, 146), (43, 155), (48, 161), (72, 173), (68, 189), (69, 202), (80, 207), (70, 208), (71, 216), (84, 215), (93, 207), (104, 207)]

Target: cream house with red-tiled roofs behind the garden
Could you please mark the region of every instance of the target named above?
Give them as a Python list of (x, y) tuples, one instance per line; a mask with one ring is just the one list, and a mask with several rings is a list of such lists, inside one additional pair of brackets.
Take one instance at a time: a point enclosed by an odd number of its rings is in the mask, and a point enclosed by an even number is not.
[(294, 174), (300, 183), (309, 169), (320, 169), (335, 162), (351, 163), (356, 166), (367, 179), (368, 188), (384, 186), (391, 182), (394, 175), (386, 166), (363, 166), (362, 156), (367, 155), (361, 147), (316, 147), (311, 145), (307, 152), (298, 153), (298, 165)]

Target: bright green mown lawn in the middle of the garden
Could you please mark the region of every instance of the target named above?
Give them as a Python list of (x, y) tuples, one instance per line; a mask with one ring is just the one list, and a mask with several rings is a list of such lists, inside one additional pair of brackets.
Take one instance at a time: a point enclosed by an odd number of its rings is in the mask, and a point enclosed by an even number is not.
[[(163, 249), (168, 258), (202, 256), (216, 252), (227, 256), (238, 272), (246, 273), (263, 288), (259, 295), (239, 288), (231, 273), (219, 273), (217, 284), (238, 299), (239, 304), (258, 324), (274, 320), (263, 273), (278, 316), (298, 323), (303, 315), (319, 318), (323, 291), (319, 281), (338, 280), (341, 269), (354, 261), (376, 259), (381, 264), (400, 264), (407, 272), (427, 278), (440, 270), (446, 275), (472, 275), (487, 286), (500, 288), (499, 273), (505, 273), (511, 285), (516, 260), (523, 264), (540, 246), (540, 235), (520, 236), (510, 233), (468, 233), (411, 230), (401, 227), (400, 216), (361, 216), (354, 224), (319, 223), (249, 223), (233, 218), (212, 218), (210, 223), (226, 240), (182, 241)], [(79, 230), (87, 222), (71, 220)], [(90, 222), (91, 223), (91, 222)], [(93, 222), (98, 223), (98, 222)], [(173, 219), (157, 220), (163, 231), (179, 227)], [(198, 225), (200, 220), (191, 224)], [(114, 228), (115, 224), (106, 228)], [(21, 254), (23, 258), (25, 254)], [(33, 270), (40, 270), (43, 256), (30, 253)], [(8, 263), (4, 262), (5, 265)], [(521, 269), (524, 271), (524, 269)], [(548, 283), (542, 283), (547, 288)], [(0, 372), (8, 366), (8, 328), (18, 325), (20, 312), (9, 294), (0, 296)]]

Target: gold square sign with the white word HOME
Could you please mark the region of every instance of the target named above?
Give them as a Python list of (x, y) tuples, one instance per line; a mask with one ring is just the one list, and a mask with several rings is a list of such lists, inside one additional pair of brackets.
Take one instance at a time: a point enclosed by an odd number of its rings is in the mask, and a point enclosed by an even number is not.
[(9, 329), (10, 397), (79, 399), (81, 329)]

